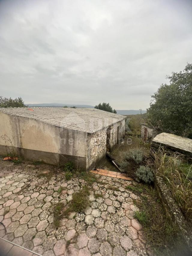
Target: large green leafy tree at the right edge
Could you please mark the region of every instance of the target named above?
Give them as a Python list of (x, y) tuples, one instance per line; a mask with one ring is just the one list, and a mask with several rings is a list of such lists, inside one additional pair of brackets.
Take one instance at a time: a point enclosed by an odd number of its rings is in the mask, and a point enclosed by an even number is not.
[(152, 95), (147, 110), (149, 122), (163, 131), (192, 137), (192, 64), (184, 71), (167, 76), (170, 85), (162, 84)]

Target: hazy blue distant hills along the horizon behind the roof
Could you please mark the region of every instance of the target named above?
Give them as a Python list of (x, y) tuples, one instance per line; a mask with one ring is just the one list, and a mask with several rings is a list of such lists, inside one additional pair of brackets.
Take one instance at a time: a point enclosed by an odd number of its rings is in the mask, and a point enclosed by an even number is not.
[[(29, 107), (88, 107), (88, 108), (94, 108), (94, 106), (91, 105), (78, 105), (78, 104), (62, 104), (62, 103), (39, 103), (39, 104), (26, 104)], [(146, 113), (146, 110), (116, 110), (117, 114), (119, 115), (137, 115), (137, 114), (144, 114)]]

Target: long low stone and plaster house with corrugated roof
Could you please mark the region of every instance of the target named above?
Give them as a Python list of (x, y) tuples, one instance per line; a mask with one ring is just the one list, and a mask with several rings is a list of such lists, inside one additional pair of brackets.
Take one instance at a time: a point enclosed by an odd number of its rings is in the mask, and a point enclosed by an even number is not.
[(94, 108), (0, 108), (0, 155), (12, 149), (9, 138), (22, 158), (89, 170), (123, 138), (125, 118)]

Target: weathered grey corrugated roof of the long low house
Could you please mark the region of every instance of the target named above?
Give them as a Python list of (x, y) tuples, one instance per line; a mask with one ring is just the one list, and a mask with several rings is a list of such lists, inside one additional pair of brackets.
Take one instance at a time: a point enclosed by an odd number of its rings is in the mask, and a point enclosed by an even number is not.
[(126, 118), (95, 108), (13, 107), (0, 108), (0, 112), (87, 133), (94, 133)]

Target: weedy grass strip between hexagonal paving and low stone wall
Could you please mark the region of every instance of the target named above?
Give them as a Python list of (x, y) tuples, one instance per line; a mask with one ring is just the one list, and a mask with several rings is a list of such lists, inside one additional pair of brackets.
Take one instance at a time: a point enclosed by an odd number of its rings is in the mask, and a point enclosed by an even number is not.
[(138, 184), (134, 188), (129, 186), (127, 189), (136, 192), (141, 198), (134, 201), (140, 209), (134, 217), (142, 224), (147, 246), (154, 255), (175, 255), (173, 251), (180, 241), (178, 227), (168, 218), (156, 190), (145, 184)]

